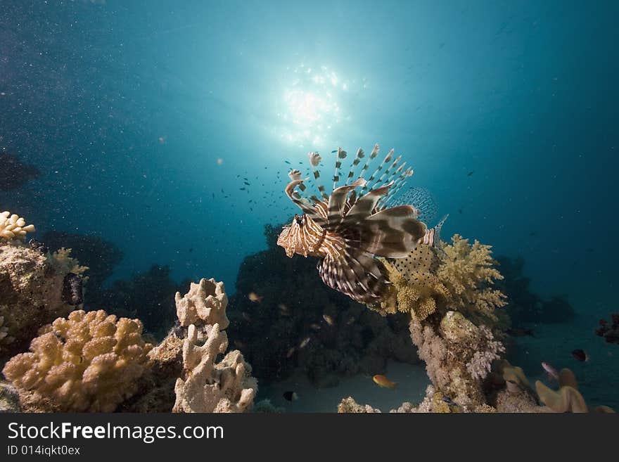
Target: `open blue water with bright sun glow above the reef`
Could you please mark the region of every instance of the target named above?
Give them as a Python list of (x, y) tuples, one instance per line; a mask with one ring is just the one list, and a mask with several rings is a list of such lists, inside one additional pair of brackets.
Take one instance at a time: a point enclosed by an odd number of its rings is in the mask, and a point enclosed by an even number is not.
[(113, 241), (108, 283), (158, 263), (234, 293), (264, 224), (296, 211), (288, 169), (378, 142), (450, 214), (443, 236), (521, 255), (537, 293), (607, 317), (618, 14), (616, 1), (5, 0), (0, 148), (43, 174), (0, 191), (0, 208)]

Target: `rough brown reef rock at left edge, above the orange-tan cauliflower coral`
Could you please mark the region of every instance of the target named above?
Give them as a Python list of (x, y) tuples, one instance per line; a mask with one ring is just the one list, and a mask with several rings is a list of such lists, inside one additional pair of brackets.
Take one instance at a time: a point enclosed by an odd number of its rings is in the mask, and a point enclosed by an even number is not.
[(23, 351), (39, 327), (75, 309), (77, 300), (63, 296), (65, 278), (82, 278), (84, 271), (67, 250), (42, 255), (26, 245), (0, 241), (0, 357)]

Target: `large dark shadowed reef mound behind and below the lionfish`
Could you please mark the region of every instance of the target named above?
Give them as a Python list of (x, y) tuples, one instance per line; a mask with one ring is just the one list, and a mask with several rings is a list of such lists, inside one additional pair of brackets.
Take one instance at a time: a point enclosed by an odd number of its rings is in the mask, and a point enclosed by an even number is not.
[(406, 316), (385, 318), (328, 288), (312, 259), (288, 259), (276, 247), (279, 229), (265, 228), (269, 248), (245, 258), (230, 299), (227, 332), (255, 377), (281, 380), (302, 368), (315, 385), (329, 386), (340, 376), (382, 373), (388, 359), (419, 362)]

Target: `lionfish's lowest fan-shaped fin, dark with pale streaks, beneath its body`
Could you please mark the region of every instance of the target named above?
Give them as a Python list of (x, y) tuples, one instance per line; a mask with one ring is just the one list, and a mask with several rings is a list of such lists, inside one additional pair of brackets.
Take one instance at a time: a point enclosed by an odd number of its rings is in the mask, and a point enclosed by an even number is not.
[(348, 295), (359, 303), (376, 302), (383, 297), (387, 276), (381, 262), (366, 252), (327, 256), (317, 265), (322, 281), (328, 287)]

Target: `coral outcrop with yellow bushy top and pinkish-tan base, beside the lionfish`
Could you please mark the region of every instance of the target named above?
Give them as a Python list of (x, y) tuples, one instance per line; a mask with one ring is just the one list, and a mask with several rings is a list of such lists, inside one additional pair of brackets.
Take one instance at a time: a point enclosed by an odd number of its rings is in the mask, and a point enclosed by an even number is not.
[(390, 293), (369, 305), (383, 316), (411, 315), (411, 340), (436, 392), (464, 411), (487, 406), (482, 383), (504, 352), (500, 339), (509, 324), (490, 254), (489, 245), (459, 235), (438, 248), (418, 244), (404, 259), (384, 260)]

